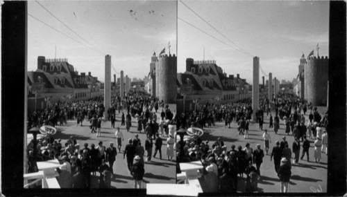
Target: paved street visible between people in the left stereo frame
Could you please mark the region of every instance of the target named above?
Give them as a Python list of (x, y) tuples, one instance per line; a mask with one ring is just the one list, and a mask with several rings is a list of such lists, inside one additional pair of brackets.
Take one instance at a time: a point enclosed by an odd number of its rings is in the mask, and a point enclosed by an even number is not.
[[(169, 105), (169, 109), (176, 114), (176, 104)], [(160, 118), (161, 109), (158, 110), (157, 117)], [(123, 159), (124, 149), (128, 143), (129, 138), (135, 138), (137, 132), (137, 123), (135, 123), (135, 118), (132, 118), (132, 126), (130, 132), (126, 132), (124, 126), (121, 126), (121, 114), (116, 114), (116, 124), (115, 128), (119, 126), (121, 131), (124, 134), (124, 142), (122, 142), (121, 154), (117, 154), (116, 162), (113, 165), (115, 172), (115, 178), (112, 179), (111, 186), (113, 188), (133, 188), (133, 178), (130, 176), (128, 167), (126, 164), (126, 159)], [(107, 148), (109, 142), (114, 142), (114, 146), (117, 147), (117, 142), (115, 139), (115, 129), (111, 128), (110, 121), (103, 121), (101, 125), (101, 137), (96, 137), (96, 133), (90, 133), (90, 123), (87, 121), (83, 122), (83, 126), (76, 126), (76, 121), (68, 121), (67, 126), (56, 126), (58, 132), (56, 135), (53, 135), (57, 140), (62, 139), (62, 143), (65, 143), (70, 135), (74, 135), (74, 138), (77, 140), (78, 144), (83, 144), (87, 142), (89, 144), (95, 144), (95, 147), (98, 146), (99, 141), (103, 141), (103, 145)], [(146, 135), (142, 132), (139, 133), (139, 138), (144, 146), (144, 141), (146, 140)], [(144, 186), (146, 183), (175, 183), (176, 182), (176, 158), (173, 161), (167, 160), (167, 138), (163, 138), (162, 144), (162, 160), (159, 159), (159, 153), (157, 153), (156, 158), (152, 157), (151, 162), (146, 162), (144, 165)], [(153, 140), (154, 143), (154, 140)], [(63, 145), (63, 144), (62, 144)], [(154, 153), (154, 145), (153, 145)], [(152, 155), (153, 155), (152, 153)], [(147, 153), (145, 152), (145, 156)], [(92, 188), (99, 187), (99, 173), (96, 173), (96, 176), (92, 176)]]

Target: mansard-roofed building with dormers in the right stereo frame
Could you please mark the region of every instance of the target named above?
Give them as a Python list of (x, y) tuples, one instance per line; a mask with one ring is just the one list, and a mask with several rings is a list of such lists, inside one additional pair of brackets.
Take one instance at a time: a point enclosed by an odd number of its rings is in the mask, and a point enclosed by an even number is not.
[(186, 60), (185, 73), (177, 74), (178, 94), (199, 103), (232, 102), (250, 96), (249, 84), (237, 74), (227, 76), (215, 61)]

